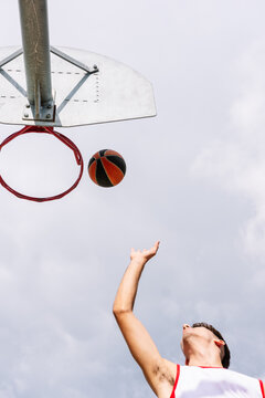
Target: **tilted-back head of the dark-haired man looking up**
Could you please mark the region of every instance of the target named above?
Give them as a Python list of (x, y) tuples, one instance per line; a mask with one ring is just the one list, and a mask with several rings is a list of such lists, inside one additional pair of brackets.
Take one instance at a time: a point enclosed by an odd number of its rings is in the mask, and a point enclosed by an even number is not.
[(223, 336), (212, 325), (204, 322), (194, 323), (192, 326), (183, 325), (181, 348), (187, 363), (191, 353), (200, 352), (219, 355), (222, 366), (225, 368), (230, 366), (230, 349)]

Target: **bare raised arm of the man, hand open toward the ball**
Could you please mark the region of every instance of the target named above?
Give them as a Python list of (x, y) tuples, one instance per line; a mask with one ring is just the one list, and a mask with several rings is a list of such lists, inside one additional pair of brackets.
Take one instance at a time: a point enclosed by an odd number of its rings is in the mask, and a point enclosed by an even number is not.
[(118, 287), (113, 311), (130, 353), (153, 392), (165, 396), (165, 391), (170, 391), (173, 385), (174, 367), (161, 358), (147, 329), (132, 313), (141, 272), (148, 260), (156, 255), (158, 247), (159, 242), (156, 242), (149, 250), (131, 249), (130, 264)]

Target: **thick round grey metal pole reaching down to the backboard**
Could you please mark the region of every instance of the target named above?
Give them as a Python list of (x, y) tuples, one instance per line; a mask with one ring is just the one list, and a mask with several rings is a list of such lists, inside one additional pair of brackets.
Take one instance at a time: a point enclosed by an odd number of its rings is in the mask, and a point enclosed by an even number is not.
[(19, 0), (19, 6), (28, 100), (38, 109), (52, 102), (46, 0)]

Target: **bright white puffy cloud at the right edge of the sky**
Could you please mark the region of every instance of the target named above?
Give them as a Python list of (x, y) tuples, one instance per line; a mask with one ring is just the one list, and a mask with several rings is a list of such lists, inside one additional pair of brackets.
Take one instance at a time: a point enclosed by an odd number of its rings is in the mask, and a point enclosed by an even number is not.
[(250, 200), (252, 216), (240, 234), (245, 250), (265, 261), (265, 43), (246, 49), (234, 66), (237, 87), (222, 139), (210, 142), (197, 156), (191, 171)]

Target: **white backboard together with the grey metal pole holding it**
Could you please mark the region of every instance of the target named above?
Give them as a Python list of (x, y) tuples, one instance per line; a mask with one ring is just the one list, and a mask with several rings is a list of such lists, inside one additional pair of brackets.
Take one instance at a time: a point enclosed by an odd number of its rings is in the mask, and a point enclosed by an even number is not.
[(50, 46), (46, 0), (19, 7), (23, 50), (0, 49), (0, 123), (68, 127), (156, 116), (144, 76), (96, 53)]

